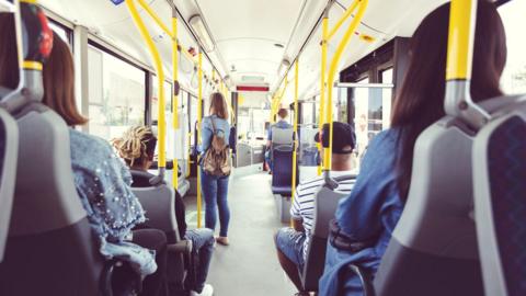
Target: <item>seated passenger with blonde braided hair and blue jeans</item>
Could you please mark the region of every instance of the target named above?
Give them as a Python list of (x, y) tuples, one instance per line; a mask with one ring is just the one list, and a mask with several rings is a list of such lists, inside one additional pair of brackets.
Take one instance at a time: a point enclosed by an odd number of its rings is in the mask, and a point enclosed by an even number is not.
[[(147, 172), (153, 161), (157, 138), (149, 127), (136, 126), (129, 128), (122, 138), (114, 139), (113, 145), (132, 170)], [(133, 186), (151, 186), (149, 180), (153, 177), (153, 174), (150, 174), (148, 178), (134, 175)], [(191, 295), (213, 295), (214, 289), (211, 285), (205, 284), (205, 282), (214, 252), (214, 231), (208, 228), (187, 230), (184, 208), (183, 198), (175, 191), (175, 218), (178, 220), (179, 235), (181, 238), (192, 241), (192, 251), (199, 258), (196, 283), (195, 286), (190, 287), (192, 289)], [(167, 208), (167, 210), (169, 209)]]

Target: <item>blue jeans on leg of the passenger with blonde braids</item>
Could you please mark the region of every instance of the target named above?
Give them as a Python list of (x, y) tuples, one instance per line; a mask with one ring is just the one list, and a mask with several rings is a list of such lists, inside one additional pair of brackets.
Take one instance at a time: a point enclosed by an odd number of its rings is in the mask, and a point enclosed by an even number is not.
[(191, 288), (201, 293), (205, 286), (208, 267), (210, 266), (211, 253), (214, 252), (214, 231), (207, 228), (187, 230), (184, 238), (192, 241), (192, 252), (199, 258), (195, 287)]

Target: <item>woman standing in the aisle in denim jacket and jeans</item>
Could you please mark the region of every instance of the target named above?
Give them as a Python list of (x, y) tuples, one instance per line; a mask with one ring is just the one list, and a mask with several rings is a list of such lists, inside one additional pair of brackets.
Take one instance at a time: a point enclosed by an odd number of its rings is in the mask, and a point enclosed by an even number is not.
[[(220, 138), (224, 143), (228, 143), (230, 138), (230, 124), (228, 123), (228, 109), (225, 98), (219, 92), (210, 95), (209, 116), (203, 118), (201, 134), (201, 152), (202, 158), (209, 149), (214, 149), (214, 137)], [(231, 146), (231, 144), (230, 144)], [(226, 148), (228, 149), (228, 148)], [(227, 157), (230, 157), (227, 153)], [(203, 162), (206, 162), (203, 161)], [(230, 221), (230, 209), (228, 208), (228, 174), (211, 174), (205, 171), (202, 164), (201, 186), (205, 196), (205, 227), (211, 230), (216, 228), (217, 214), (219, 210), (219, 237), (216, 241), (220, 244), (228, 246), (228, 223)]]

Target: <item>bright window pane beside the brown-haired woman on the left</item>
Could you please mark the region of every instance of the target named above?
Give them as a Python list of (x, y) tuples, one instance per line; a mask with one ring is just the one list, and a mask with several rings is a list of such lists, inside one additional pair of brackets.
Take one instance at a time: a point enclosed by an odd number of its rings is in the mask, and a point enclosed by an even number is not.
[(89, 46), (89, 132), (104, 139), (145, 124), (146, 72)]

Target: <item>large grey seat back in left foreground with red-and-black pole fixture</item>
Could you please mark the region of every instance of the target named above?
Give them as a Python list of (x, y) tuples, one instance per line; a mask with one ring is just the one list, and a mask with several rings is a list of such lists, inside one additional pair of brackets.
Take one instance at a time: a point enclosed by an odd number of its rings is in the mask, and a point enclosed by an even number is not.
[[(42, 10), (21, 2), (26, 60), (42, 61)], [(35, 21), (38, 20), (38, 21)], [(42, 72), (24, 69), (23, 86), (2, 103), (15, 110), (16, 180), (0, 295), (111, 295), (114, 262), (99, 253), (70, 161), (69, 128), (42, 100)], [(24, 91), (20, 91), (20, 90)]]

